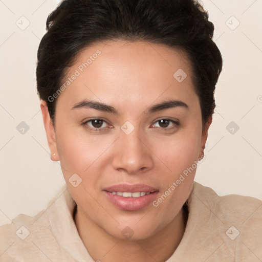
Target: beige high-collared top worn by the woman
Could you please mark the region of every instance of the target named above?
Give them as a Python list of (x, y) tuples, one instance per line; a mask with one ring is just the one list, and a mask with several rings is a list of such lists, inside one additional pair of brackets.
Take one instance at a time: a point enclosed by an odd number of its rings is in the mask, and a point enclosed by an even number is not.
[[(0, 261), (94, 262), (77, 232), (75, 205), (64, 185), (46, 210), (0, 227)], [(219, 197), (194, 182), (188, 211), (181, 243), (166, 262), (262, 261), (262, 201)]]

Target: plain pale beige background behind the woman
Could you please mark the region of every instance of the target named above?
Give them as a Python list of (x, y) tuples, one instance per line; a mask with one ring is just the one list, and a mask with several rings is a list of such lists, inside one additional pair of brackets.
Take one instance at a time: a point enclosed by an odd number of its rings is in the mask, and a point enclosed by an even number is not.
[[(33, 216), (45, 209), (65, 183), (59, 163), (50, 160), (35, 80), (37, 48), (57, 3), (0, 1), (0, 225), (19, 213)], [(224, 69), (215, 94), (206, 160), (195, 181), (219, 195), (262, 200), (262, 0), (203, 4), (215, 24)], [(29, 126), (25, 134), (16, 129), (22, 121)]]

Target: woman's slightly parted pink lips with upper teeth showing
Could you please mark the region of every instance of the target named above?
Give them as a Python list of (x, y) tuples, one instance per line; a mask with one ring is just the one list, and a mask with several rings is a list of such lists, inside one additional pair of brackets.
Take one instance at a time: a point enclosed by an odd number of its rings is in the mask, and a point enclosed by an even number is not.
[(127, 211), (136, 211), (148, 206), (158, 194), (159, 190), (144, 184), (118, 184), (106, 187), (103, 190), (107, 200), (117, 208)]

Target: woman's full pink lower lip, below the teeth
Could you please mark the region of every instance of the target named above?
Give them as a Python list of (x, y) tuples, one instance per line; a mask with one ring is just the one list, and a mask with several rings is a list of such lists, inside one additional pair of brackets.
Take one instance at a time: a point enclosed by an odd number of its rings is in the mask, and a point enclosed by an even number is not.
[(107, 198), (118, 208), (127, 211), (136, 211), (148, 206), (154, 201), (158, 191), (143, 195), (139, 198), (125, 198), (121, 195), (112, 194), (111, 192), (104, 191)]

